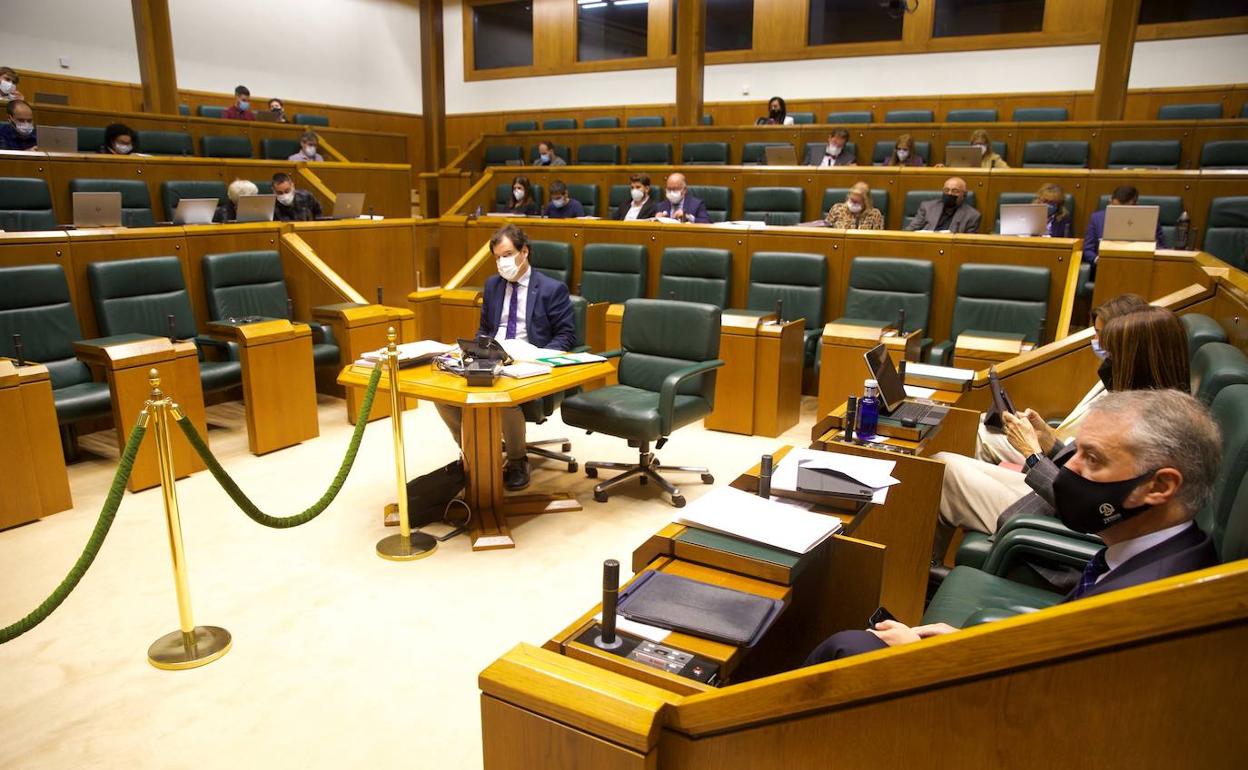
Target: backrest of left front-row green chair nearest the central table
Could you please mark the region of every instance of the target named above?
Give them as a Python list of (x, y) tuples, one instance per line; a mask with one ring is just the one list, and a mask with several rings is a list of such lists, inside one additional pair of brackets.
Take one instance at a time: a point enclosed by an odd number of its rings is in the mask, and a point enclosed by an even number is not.
[(235, 251), (203, 257), (208, 318), (286, 318), (286, 276), (276, 251)]

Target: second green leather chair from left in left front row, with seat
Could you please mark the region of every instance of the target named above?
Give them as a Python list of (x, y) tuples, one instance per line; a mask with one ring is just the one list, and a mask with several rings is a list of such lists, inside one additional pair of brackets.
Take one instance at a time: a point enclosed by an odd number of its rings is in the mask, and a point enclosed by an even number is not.
[[(177, 257), (146, 257), (92, 262), (86, 266), (95, 319), (100, 333), (150, 334), (167, 337), (168, 317), (173, 317), (173, 334), (193, 339), (200, 349), (200, 384), (205, 393), (226, 391), (242, 383), (242, 364), (230, 344), (210, 337), (197, 337), (191, 297), (182, 281), (182, 263)], [(206, 361), (203, 348), (213, 347), (225, 361)]]

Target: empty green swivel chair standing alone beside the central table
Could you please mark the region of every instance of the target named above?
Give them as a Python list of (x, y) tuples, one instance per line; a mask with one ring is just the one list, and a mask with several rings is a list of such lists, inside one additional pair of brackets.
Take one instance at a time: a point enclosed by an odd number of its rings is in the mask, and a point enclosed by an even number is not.
[(685, 498), (661, 475), (663, 470), (701, 474), (706, 468), (660, 465), (650, 451), (661, 449), (673, 431), (694, 423), (715, 406), (720, 308), (700, 302), (629, 300), (624, 303), (620, 348), (604, 353), (619, 358), (619, 384), (578, 393), (563, 402), (563, 422), (589, 432), (624, 438), (636, 447), (636, 464), (585, 463), (585, 475), (623, 470), (594, 487), (594, 499), (607, 502), (610, 490), (626, 480), (654, 482), (683, 508)]

